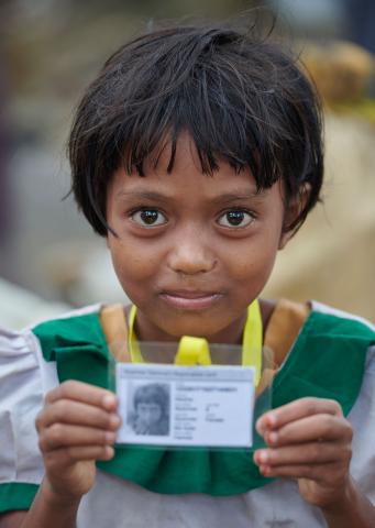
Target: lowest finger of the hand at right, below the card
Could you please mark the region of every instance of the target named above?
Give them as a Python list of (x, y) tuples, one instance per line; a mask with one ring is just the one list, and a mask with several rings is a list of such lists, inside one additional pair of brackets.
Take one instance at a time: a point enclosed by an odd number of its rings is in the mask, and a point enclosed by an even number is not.
[(346, 474), (346, 469), (340, 463), (324, 463), (317, 465), (291, 464), (291, 465), (261, 465), (260, 472), (264, 476), (284, 476), (289, 479), (309, 479), (316, 482), (338, 482)]

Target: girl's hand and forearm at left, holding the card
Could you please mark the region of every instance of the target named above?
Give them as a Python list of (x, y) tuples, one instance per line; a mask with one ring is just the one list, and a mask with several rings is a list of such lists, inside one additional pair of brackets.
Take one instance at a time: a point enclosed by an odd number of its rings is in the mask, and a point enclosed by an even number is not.
[(51, 391), (36, 418), (45, 476), (27, 513), (0, 518), (0, 528), (75, 528), (81, 497), (95, 484), (96, 460), (113, 457), (120, 419), (109, 391), (66, 382)]

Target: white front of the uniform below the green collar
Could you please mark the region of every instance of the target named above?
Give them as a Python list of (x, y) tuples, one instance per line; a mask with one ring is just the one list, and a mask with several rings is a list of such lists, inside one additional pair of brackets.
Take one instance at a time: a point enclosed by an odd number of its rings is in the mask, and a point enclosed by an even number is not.
[(82, 499), (77, 528), (321, 528), (318, 508), (298, 494), (297, 484), (278, 481), (231, 497), (159, 495), (112, 475), (99, 473)]

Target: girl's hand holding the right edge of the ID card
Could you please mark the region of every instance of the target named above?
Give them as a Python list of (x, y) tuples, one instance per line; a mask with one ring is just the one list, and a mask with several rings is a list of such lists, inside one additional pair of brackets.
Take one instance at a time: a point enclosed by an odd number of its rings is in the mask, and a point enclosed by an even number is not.
[(256, 429), (269, 447), (254, 454), (263, 475), (297, 479), (302, 497), (322, 508), (348, 496), (353, 431), (337, 402), (297, 399), (263, 415)]

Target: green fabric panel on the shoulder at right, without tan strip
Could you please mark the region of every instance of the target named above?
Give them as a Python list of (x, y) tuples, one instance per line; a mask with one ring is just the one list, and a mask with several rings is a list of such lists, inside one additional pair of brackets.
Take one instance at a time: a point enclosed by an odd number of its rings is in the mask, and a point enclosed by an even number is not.
[(375, 332), (353, 319), (312, 311), (273, 385), (273, 407), (305, 396), (335, 399), (348, 416)]

